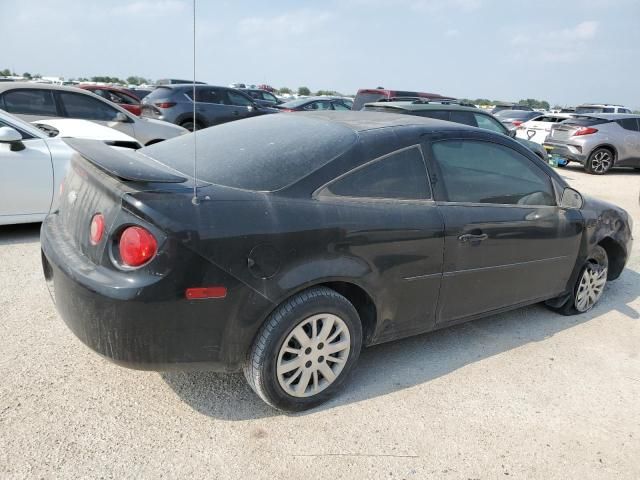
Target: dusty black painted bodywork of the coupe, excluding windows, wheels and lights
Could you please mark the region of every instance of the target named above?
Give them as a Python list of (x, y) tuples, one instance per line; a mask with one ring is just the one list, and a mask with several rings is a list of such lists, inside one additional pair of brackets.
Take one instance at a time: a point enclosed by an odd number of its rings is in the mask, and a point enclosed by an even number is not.
[[(242, 364), (274, 308), (311, 286), (347, 296), (363, 322), (364, 344), (371, 345), (569, 295), (581, 262), (603, 241), (618, 255), (610, 279), (624, 267), (629, 220), (613, 205), (587, 200), (578, 210), (444, 201), (429, 161), (432, 142), (487, 140), (541, 163), (512, 139), (403, 115), (334, 115), (312, 118), (344, 121), (358, 132), (343, 155), (276, 192), (203, 184), (198, 206), (192, 179), (123, 181), (98, 168), (100, 159), (78, 154), (65, 181), (77, 199), (71, 204), (67, 197), (41, 234), (45, 277), (68, 326), (129, 367), (229, 371)], [(412, 145), (427, 159), (432, 200), (315, 194), (372, 156)], [(540, 168), (559, 202), (566, 183)], [(110, 236), (95, 248), (86, 227), (97, 211)], [(156, 258), (135, 271), (115, 268), (113, 257), (114, 238), (131, 224), (148, 228), (159, 245)], [(478, 224), (487, 243), (461, 244), (460, 233)], [(228, 294), (185, 298), (186, 288), (210, 285), (223, 285)]]

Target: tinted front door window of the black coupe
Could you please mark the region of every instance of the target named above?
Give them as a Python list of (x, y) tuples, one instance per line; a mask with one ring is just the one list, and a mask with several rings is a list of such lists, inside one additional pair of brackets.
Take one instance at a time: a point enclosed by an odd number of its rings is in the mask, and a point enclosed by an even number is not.
[(433, 144), (440, 178), (451, 202), (555, 205), (550, 178), (515, 150), (490, 142)]

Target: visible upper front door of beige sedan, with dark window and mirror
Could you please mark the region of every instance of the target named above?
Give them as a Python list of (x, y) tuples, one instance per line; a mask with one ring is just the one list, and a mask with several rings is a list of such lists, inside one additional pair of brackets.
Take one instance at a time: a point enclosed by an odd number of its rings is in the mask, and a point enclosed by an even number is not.
[[(120, 110), (112, 107), (108, 101), (90, 93), (76, 93), (66, 90), (55, 92), (63, 116), (67, 118), (78, 118), (81, 120), (91, 120), (105, 127), (114, 128), (129, 136), (135, 137), (133, 120)], [(124, 118), (120, 121), (119, 118)]]

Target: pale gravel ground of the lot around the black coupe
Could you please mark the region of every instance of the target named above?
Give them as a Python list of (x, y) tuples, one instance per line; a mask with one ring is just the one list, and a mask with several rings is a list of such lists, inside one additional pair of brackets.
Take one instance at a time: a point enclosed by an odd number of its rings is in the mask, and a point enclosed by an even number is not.
[[(640, 172), (562, 170), (635, 218)], [(38, 226), (0, 227), (0, 478), (640, 478), (640, 240), (591, 312), (542, 306), (370, 348), (304, 414), (241, 375), (89, 351), (56, 314)]]

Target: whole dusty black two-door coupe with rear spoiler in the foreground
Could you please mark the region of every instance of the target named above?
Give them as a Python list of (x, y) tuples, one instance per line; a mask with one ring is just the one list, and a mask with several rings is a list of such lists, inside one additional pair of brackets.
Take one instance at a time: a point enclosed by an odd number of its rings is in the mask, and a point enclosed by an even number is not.
[(193, 134), (135, 152), (67, 140), (45, 277), (98, 353), (242, 368), (279, 409), (331, 397), (362, 346), (534, 302), (585, 312), (631, 251), (624, 210), (487, 130), (326, 112), (195, 135), (197, 181)]

